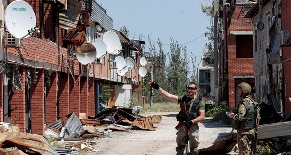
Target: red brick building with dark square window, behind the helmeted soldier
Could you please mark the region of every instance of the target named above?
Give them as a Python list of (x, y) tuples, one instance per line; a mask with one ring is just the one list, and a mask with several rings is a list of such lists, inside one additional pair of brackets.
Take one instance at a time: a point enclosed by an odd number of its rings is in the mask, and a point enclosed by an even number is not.
[[(228, 0), (229, 1), (229, 0)], [(231, 1), (231, 0), (230, 0)], [(222, 1), (221, 1), (222, 2)], [(240, 100), (236, 95), (237, 85), (247, 82), (255, 86), (253, 69), (252, 23), (250, 19), (243, 19), (248, 3), (236, 0), (236, 3), (220, 3), (221, 31), (220, 38), (220, 68), (221, 81), (226, 82), (229, 107), (234, 109)], [(225, 74), (226, 73), (226, 74)]]

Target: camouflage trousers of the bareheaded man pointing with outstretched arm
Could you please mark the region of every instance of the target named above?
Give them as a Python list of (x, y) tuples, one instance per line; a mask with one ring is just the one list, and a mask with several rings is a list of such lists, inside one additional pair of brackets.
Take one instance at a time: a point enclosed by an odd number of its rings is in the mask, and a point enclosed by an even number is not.
[[(176, 135), (176, 143), (177, 143), (177, 148), (176, 148), (176, 155), (183, 155), (182, 153), (184, 152), (185, 144), (186, 144), (186, 131), (185, 131), (185, 126), (181, 126)], [(192, 124), (190, 126), (190, 135), (189, 135), (189, 150), (192, 153), (192, 155), (198, 155), (198, 145), (199, 145), (199, 126), (198, 124)]]

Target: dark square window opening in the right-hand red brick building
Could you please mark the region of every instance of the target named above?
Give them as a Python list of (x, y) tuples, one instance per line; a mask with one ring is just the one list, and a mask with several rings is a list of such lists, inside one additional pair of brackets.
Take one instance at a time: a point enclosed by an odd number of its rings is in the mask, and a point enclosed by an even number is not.
[(252, 35), (236, 35), (236, 58), (253, 58)]

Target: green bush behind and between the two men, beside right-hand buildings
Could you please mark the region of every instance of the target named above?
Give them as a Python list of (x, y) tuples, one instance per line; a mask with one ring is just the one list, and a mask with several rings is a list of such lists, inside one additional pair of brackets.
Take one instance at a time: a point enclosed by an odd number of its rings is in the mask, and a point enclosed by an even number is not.
[(222, 101), (218, 106), (209, 109), (206, 113), (206, 117), (213, 117), (213, 121), (222, 121), (224, 124), (230, 124), (230, 118), (226, 116), (226, 111), (229, 111), (226, 101)]

